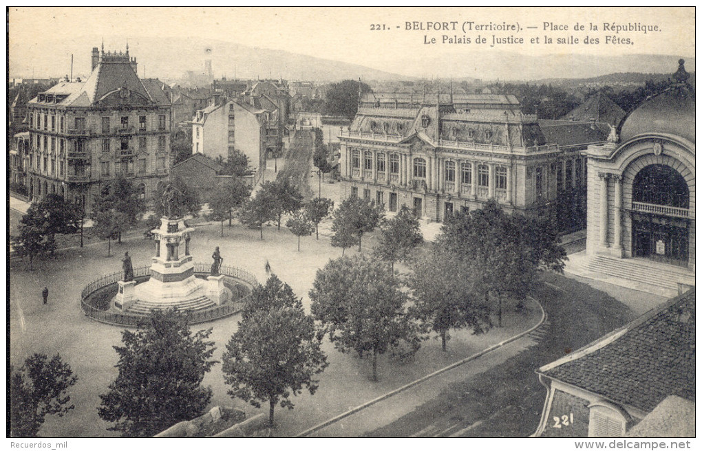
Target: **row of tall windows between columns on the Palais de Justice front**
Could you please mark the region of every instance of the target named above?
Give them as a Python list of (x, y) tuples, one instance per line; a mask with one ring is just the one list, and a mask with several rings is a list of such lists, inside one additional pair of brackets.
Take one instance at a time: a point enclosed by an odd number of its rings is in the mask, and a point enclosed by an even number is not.
[[(358, 169), (361, 166), (360, 152), (352, 151), (351, 166)], [(373, 170), (373, 152), (364, 152), (364, 169)], [(461, 183), (472, 184), (472, 166), (474, 163), (461, 163)], [(380, 152), (376, 155), (376, 170), (385, 172), (385, 154)], [(399, 174), (399, 155), (390, 154), (390, 173)], [(417, 178), (427, 177), (427, 161), (422, 158), (413, 159), (412, 175)], [(456, 181), (456, 162), (444, 162), (444, 180), (446, 182)], [(507, 189), (507, 168), (496, 166), (495, 168), (496, 189)], [(487, 165), (477, 165), (477, 184), (479, 187), (488, 187), (490, 182), (490, 168)]]

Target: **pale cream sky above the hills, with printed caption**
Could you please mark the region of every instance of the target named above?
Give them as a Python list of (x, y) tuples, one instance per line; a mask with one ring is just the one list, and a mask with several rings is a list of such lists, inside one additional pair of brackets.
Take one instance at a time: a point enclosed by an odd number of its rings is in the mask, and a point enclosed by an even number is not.
[[(409, 22), (409, 23), (408, 23)], [(430, 23), (428, 23), (430, 22)], [(444, 25), (443, 22), (446, 22)], [(468, 22), (474, 22), (468, 29)], [(574, 30), (576, 25), (583, 30)], [(583, 43), (594, 36), (589, 23), (599, 25), (597, 45)], [(657, 26), (658, 31), (604, 32), (604, 22), (635, 27)], [(456, 25), (454, 25), (454, 23)], [(438, 25), (437, 25), (438, 24)], [(518, 32), (498, 29), (506, 24)], [(548, 25), (547, 25), (548, 24)], [(379, 27), (375, 27), (378, 25)], [(465, 27), (464, 27), (465, 25)], [(483, 25), (483, 30), (475, 29)], [(376, 69), (397, 67), (403, 58), (457, 57), (503, 51), (550, 55), (585, 53), (625, 55), (631, 53), (694, 55), (694, 8), (82, 8), (35, 7), (9, 11), (9, 62), (13, 67), (34, 67), (43, 61), (65, 58), (50, 44), (69, 43), (77, 34), (107, 36), (106, 48), (123, 48), (130, 36), (198, 36), (231, 41), (245, 46), (273, 48), (318, 58), (340, 60)], [(407, 28), (411, 29), (407, 29)], [(427, 30), (426, 28), (430, 29)], [(436, 28), (439, 29), (436, 29)], [(456, 29), (453, 29), (456, 27)], [(490, 29), (492, 27), (492, 30)], [(534, 28), (528, 28), (534, 27)], [(564, 29), (567, 27), (567, 29)], [(380, 29), (373, 29), (380, 28)], [(41, 32), (37, 32), (41, 30)], [(491, 41), (496, 35), (507, 41), (491, 47), (476, 45), (478, 35)], [(577, 44), (543, 43), (544, 36), (578, 38)], [(115, 37), (119, 36), (119, 37)], [(468, 43), (449, 43), (470, 38)], [(509, 42), (510, 36), (524, 43)], [(605, 43), (606, 36), (633, 43)], [(50, 39), (47, 40), (47, 37)], [(538, 38), (538, 44), (531, 39)], [(431, 39), (437, 42), (431, 43)], [(51, 41), (51, 42), (48, 42)], [(51, 49), (51, 50), (50, 50)], [(28, 74), (24, 74), (28, 76)]]

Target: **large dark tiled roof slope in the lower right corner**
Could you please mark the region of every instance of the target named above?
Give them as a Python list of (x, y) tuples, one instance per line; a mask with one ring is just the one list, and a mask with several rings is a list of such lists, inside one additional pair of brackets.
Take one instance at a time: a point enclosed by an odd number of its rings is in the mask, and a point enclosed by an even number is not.
[(694, 400), (694, 288), (537, 372), (644, 412)]

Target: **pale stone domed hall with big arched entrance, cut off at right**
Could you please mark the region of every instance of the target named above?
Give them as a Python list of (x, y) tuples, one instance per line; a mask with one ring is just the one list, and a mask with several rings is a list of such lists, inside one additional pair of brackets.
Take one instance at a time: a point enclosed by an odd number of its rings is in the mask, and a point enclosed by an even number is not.
[(694, 271), (695, 100), (687, 77), (681, 60), (670, 88), (631, 112), (611, 142), (588, 147), (588, 257), (642, 257)]

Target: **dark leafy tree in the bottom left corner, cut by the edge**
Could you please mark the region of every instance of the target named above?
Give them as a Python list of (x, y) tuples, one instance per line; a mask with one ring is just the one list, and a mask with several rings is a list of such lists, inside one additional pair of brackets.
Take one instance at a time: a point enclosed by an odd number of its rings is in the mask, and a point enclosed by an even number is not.
[(33, 354), (18, 369), (10, 367), (10, 430), (13, 437), (36, 437), (46, 415), (62, 417), (68, 405), (67, 389), (78, 377), (56, 354), (51, 358)]

